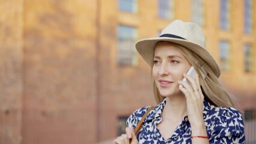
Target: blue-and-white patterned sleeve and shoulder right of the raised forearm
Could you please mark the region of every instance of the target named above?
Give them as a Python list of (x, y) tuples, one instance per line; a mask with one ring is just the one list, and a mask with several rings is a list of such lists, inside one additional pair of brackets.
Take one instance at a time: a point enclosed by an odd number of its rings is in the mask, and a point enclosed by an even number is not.
[[(218, 142), (243, 143), (245, 140), (242, 114), (233, 107), (210, 106), (204, 110), (210, 139)], [(216, 141), (217, 142), (217, 141)]]

